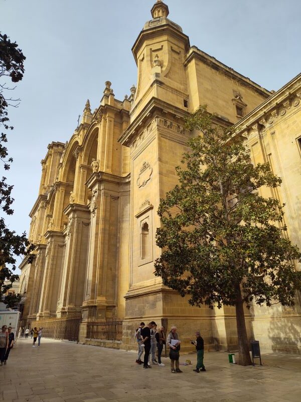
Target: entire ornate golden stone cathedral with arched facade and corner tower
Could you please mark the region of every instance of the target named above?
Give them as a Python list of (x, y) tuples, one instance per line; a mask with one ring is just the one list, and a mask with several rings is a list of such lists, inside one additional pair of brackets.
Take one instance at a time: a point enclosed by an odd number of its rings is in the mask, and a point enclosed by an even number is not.
[[(42, 160), (39, 195), (30, 213), (35, 259), (21, 264), (27, 277), (24, 324), (81, 316), (87, 325), (123, 318), (121, 347), (134, 347), (141, 320), (177, 324), (183, 349), (196, 328), (208, 349), (236, 345), (232, 308), (191, 307), (154, 276), (161, 197), (177, 183), (191, 135), (185, 119), (199, 105), (216, 122), (239, 127), (254, 163), (270, 161), (283, 178), (272, 195), (285, 202), (288, 235), (301, 246), (301, 75), (275, 93), (227, 67), (196, 46), (168, 19), (158, 0), (132, 47), (137, 85), (115, 99), (105, 82), (100, 105), (89, 100), (66, 144), (52, 142)], [(264, 190), (263, 190), (264, 191)], [(250, 338), (269, 350), (301, 351), (300, 304), (246, 312)]]

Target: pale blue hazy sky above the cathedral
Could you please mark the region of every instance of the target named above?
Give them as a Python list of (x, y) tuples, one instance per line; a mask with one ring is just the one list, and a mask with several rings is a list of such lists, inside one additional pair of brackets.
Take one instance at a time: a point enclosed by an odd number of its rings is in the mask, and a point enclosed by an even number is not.
[[(14, 184), (10, 229), (29, 229), (41, 159), (52, 141), (66, 142), (86, 99), (98, 107), (104, 82), (123, 99), (136, 84), (131, 47), (155, 0), (0, 0), (0, 29), (27, 57), (9, 117), (6, 175)], [(299, 0), (166, 0), (169, 18), (190, 44), (267, 89), (277, 90), (301, 68)]]

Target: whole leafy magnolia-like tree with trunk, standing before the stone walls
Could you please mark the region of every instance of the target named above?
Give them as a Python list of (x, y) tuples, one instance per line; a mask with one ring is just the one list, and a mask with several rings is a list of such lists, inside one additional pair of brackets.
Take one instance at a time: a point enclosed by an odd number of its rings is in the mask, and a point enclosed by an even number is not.
[(301, 254), (285, 236), (284, 205), (258, 191), (281, 179), (268, 163), (253, 166), (244, 139), (214, 125), (206, 106), (187, 127), (200, 135), (188, 141), (179, 184), (160, 201), (155, 275), (192, 306), (234, 306), (239, 364), (251, 364), (244, 305), (293, 306), (301, 287)]

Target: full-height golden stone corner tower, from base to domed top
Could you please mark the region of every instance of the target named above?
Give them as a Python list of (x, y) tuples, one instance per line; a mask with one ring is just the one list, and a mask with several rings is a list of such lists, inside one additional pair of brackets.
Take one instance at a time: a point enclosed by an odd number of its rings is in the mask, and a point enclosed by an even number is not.
[[(154, 263), (161, 254), (156, 245), (160, 198), (178, 182), (175, 167), (190, 135), (185, 129), (189, 100), (185, 55), (190, 44), (182, 28), (168, 19), (165, 3), (157, 1), (151, 12), (153, 19), (145, 23), (132, 47), (137, 87), (131, 91), (130, 125), (118, 140), (129, 147), (131, 166), (124, 349), (133, 348), (132, 334), (141, 321), (171, 326), (181, 312), (185, 326), (202, 314), (202, 309), (188, 308), (187, 300), (154, 275)], [(181, 331), (181, 320), (177, 326)], [(211, 329), (209, 322), (208, 326)]]

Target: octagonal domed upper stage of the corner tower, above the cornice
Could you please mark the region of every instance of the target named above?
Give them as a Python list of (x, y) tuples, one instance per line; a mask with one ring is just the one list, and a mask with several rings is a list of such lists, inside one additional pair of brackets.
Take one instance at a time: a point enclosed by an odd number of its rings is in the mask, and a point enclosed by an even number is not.
[(188, 88), (184, 66), (190, 48), (182, 28), (169, 20), (168, 6), (158, 1), (151, 10), (132, 52), (137, 64), (137, 89), (131, 110), (131, 121), (152, 98), (159, 98), (187, 111)]

